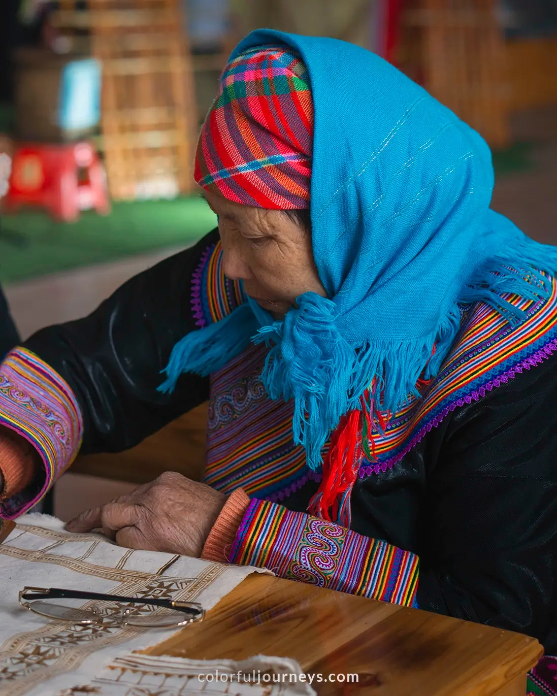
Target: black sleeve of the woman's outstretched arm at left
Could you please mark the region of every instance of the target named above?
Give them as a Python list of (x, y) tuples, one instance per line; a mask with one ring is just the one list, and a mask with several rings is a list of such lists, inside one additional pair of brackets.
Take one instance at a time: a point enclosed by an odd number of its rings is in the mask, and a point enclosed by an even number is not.
[(175, 343), (196, 329), (191, 275), (218, 238), (214, 230), (128, 280), (88, 317), (42, 329), (24, 343), (77, 397), (83, 454), (130, 448), (207, 400), (208, 379), (193, 374), (182, 375), (172, 394), (157, 386)]

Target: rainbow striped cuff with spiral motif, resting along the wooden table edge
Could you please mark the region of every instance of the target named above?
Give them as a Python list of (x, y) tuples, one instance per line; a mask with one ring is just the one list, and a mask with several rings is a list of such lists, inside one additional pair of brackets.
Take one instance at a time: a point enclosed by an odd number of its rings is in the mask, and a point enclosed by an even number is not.
[(418, 557), (338, 524), (252, 500), (230, 549), (230, 562), (281, 578), (417, 607)]

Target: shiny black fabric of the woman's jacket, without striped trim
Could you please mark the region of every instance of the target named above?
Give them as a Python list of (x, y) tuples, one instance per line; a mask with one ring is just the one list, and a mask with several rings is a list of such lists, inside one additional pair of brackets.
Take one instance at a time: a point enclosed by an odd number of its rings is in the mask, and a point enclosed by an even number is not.
[[(79, 400), (81, 452), (130, 448), (207, 400), (208, 379), (193, 375), (171, 395), (156, 387), (195, 328), (190, 276), (217, 238), (26, 341)], [(316, 485), (283, 504), (305, 510)], [(392, 470), (358, 480), (352, 529), (419, 555), (421, 608), (528, 633), (557, 652), (557, 356), (453, 411)]]

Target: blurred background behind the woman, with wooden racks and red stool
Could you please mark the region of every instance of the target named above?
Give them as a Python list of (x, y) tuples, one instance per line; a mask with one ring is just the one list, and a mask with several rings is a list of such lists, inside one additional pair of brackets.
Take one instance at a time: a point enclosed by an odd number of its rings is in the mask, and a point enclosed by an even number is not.
[[(557, 0), (0, 0), (0, 282), (22, 338), (215, 226), (196, 135), (262, 26), (354, 42), (425, 86), (491, 145), (493, 207), (557, 244)], [(115, 461), (72, 470), (159, 473)]]

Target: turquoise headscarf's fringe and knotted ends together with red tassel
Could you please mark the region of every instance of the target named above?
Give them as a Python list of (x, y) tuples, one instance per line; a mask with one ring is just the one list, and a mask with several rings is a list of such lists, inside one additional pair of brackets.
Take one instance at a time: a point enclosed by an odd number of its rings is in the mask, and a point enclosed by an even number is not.
[[(256, 344), (265, 342), (269, 351), (262, 383), (273, 400), (293, 400), (293, 438), (305, 448), (312, 470), (322, 468), (322, 450), (331, 437), (327, 491), (320, 491), (312, 507), (325, 514), (333, 506), (336, 514), (340, 510), (343, 519), (349, 519), (350, 501), (345, 493), (352, 489), (357, 471), (352, 466), (356, 445), (342, 436), (347, 423), (352, 435), (357, 430), (361, 450), (363, 404), (369, 414), (366, 420), (369, 418), (372, 429), (377, 430), (384, 427), (378, 413), (395, 413), (411, 397), (419, 398), (419, 380), (438, 374), (455, 341), (461, 308), (483, 301), (516, 325), (524, 318), (524, 311), (513, 300), (516, 296), (532, 301), (547, 298), (552, 287), (548, 274), (556, 269), (556, 248), (523, 237), (471, 276), (434, 332), (355, 346), (338, 328), (334, 301), (315, 293), (299, 296), (297, 306), (283, 321), (266, 326), (260, 326), (253, 310), (244, 304), (217, 324), (189, 333), (175, 345), (165, 370), (167, 379), (159, 390), (172, 391), (182, 372), (207, 375), (221, 369), (249, 345), (250, 338)], [(357, 427), (356, 421), (350, 420), (352, 413), (357, 413)]]

